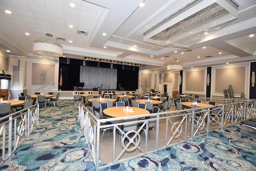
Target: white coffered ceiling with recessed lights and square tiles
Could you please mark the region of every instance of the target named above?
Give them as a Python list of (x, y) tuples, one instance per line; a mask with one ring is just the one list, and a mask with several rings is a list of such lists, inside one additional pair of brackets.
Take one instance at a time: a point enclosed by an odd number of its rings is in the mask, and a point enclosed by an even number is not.
[[(139, 6), (142, 2), (143, 7)], [(191, 49), (143, 42), (144, 32), (191, 2), (194, 0), (0, 0), (0, 51), (36, 58), (33, 41), (51, 33), (63, 46), (66, 58), (122, 61), (139, 64), (140, 70), (166, 71), (173, 58), (184, 68), (256, 59), (256, 0), (236, 0), (238, 19)], [(251, 34), (255, 36), (249, 37)]]

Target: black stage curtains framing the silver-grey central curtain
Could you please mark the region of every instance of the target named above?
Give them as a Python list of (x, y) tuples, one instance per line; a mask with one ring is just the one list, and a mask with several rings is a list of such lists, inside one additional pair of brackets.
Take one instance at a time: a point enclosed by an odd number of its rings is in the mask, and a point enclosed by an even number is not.
[[(68, 64), (69, 63), (69, 64)], [(99, 64), (99, 65), (98, 65)], [(58, 87), (62, 90), (73, 90), (74, 85), (80, 82), (80, 66), (83, 66), (83, 60), (59, 58), (59, 82)], [(93, 66), (100, 68), (110, 68), (110, 63), (86, 61), (86, 66)], [(60, 69), (62, 69), (62, 87), (60, 87)], [(113, 64), (112, 69), (117, 70), (117, 85), (115, 89), (122, 87), (124, 90), (135, 91), (138, 89), (138, 74), (139, 67), (126, 66), (121, 64)], [(92, 76), (93, 77), (93, 76)], [(111, 81), (111, 79), (109, 79)], [(86, 84), (85, 84), (86, 85)], [(84, 89), (87, 89), (84, 87)], [(103, 85), (104, 89), (104, 85)]]

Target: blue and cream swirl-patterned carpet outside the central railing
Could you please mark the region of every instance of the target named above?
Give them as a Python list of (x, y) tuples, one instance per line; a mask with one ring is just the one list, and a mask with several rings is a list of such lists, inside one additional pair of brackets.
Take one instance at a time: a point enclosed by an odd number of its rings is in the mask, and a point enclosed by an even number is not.
[[(84, 143), (74, 100), (40, 108), (40, 126), (0, 170), (94, 171), (92, 156)], [(255, 171), (256, 134), (249, 129), (240, 137), (240, 125), (161, 150), (158, 154), (114, 165), (112, 171)]]

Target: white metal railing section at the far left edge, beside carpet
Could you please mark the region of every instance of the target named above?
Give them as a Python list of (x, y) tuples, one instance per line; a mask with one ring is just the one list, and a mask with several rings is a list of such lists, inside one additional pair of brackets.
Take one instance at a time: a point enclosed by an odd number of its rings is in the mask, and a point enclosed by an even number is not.
[(0, 118), (0, 166), (12, 156), (38, 123), (38, 104)]

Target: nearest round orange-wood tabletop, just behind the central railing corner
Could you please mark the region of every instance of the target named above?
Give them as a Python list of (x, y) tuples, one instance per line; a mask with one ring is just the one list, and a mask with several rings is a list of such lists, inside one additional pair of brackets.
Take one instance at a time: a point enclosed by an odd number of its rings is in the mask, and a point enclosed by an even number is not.
[(129, 107), (129, 109), (131, 108), (132, 108), (132, 111), (126, 111), (126, 106), (125, 107), (109, 107), (104, 109), (103, 113), (111, 117), (126, 117), (126, 116), (150, 114), (150, 112), (146, 109), (142, 109), (139, 107)]

